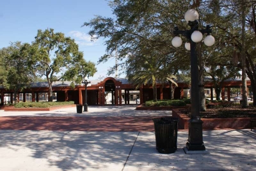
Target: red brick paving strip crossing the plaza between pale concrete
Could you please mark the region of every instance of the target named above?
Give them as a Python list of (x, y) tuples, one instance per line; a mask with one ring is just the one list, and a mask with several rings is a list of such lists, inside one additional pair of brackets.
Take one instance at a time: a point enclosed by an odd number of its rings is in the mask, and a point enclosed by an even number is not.
[(0, 117), (0, 130), (154, 131), (154, 117)]

